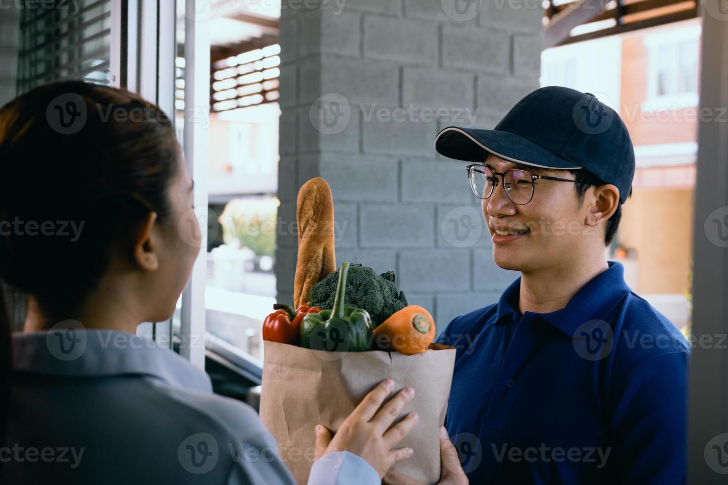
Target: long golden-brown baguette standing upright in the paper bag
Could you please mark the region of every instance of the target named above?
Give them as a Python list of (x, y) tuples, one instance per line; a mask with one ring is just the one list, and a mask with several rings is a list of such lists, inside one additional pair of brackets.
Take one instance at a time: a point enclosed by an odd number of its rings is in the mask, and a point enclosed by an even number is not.
[(321, 177), (312, 178), (298, 191), (298, 261), (293, 280), (293, 304), (309, 302), (314, 284), (336, 271), (333, 247), (333, 196)]

